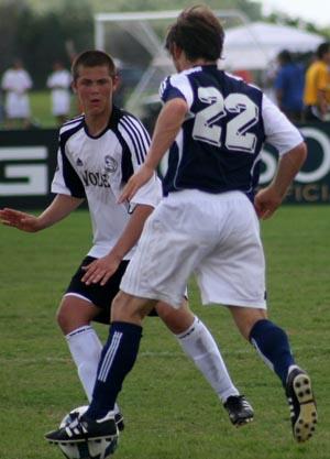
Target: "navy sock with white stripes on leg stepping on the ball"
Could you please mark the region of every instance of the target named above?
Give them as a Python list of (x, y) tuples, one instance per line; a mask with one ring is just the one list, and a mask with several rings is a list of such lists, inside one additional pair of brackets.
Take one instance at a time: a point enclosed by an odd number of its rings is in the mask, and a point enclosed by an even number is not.
[(139, 325), (112, 323), (108, 341), (101, 353), (92, 401), (86, 416), (99, 419), (113, 409), (122, 383), (136, 360), (141, 337), (142, 327)]

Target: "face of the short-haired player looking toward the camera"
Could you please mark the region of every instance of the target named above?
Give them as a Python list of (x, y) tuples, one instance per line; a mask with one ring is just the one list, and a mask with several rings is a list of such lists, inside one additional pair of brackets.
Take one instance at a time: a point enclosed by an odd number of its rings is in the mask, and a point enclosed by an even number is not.
[(74, 90), (85, 114), (108, 114), (112, 108), (112, 95), (117, 85), (118, 77), (109, 75), (107, 66), (80, 66), (79, 76), (74, 83)]

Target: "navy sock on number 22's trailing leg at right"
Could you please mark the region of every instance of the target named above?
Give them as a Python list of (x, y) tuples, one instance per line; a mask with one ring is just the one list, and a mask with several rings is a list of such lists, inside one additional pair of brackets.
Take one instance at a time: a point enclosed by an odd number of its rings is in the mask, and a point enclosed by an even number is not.
[(285, 386), (288, 369), (295, 364), (286, 332), (271, 320), (262, 319), (252, 327), (250, 341)]

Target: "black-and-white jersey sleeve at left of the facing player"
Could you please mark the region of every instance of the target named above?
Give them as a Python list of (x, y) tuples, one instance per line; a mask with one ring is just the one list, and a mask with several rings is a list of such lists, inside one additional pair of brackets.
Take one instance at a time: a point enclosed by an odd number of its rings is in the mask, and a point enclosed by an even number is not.
[(51, 189), (52, 193), (58, 195), (68, 195), (80, 199), (86, 197), (84, 185), (66, 157), (65, 150), (61, 141), (57, 152), (57, 167)]

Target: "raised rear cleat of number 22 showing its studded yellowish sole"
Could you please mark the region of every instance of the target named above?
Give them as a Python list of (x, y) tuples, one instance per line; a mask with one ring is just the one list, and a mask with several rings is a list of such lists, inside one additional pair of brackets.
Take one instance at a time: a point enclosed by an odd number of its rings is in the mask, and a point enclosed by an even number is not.
[(290, 407), (293, 434), (298, 442), (308, 440), (318, 420), (316, 401), (308, 374), (295, 368), (287, 376), (286, 396)]

